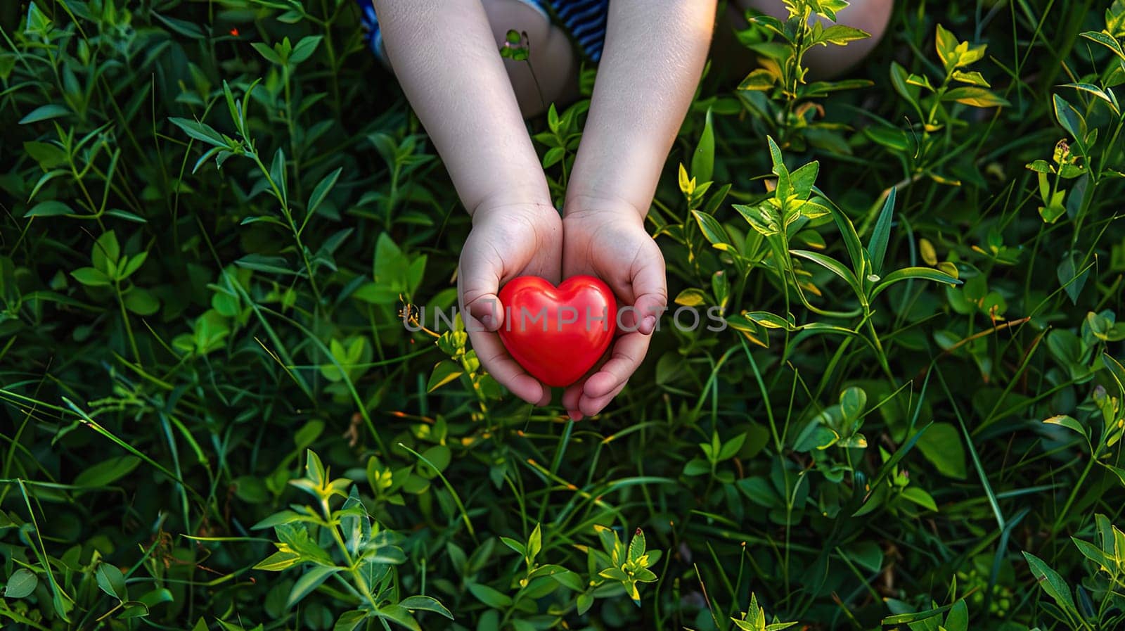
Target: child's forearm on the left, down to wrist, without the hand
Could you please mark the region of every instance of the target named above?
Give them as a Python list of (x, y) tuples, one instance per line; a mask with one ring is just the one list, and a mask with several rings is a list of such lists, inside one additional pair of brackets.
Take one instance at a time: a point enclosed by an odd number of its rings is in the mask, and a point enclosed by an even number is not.
[(472, 214), (550, 204), (480, 0), (376, 0), (387, 56)]

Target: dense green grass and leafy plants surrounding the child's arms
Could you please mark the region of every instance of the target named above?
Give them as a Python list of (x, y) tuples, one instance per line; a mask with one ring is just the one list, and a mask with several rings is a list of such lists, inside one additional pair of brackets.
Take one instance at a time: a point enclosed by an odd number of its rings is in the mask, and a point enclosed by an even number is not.
[(4, 2), (2, 625), (1119, 629), (1125, 6), (803, 24), (649, 215), (730, 327), (572, 424), (403, 326), (469, 222), (350, 1)]

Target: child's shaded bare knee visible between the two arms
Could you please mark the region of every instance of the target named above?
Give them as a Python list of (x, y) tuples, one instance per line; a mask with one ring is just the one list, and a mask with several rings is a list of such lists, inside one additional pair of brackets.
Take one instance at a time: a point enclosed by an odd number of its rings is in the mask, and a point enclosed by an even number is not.
[(484, 7), (497, 47), (503, 46), (508, 30), (528, 36), (531, 66), (528, 61), (504, 60), (520, 111), (533, 116), (566, 99), (575, 83), (577, 57), (562, 29), (523, 0), (484, 0)]

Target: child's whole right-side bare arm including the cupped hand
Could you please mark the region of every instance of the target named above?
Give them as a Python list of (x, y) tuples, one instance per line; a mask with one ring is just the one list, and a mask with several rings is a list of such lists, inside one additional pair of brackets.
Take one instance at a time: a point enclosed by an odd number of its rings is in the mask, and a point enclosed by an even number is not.
[(562, 272), (601, 277), (633, 312), (622, 316), (624, 334), (608, 361), (562, 395), (570, 418), (597, 414), (624, 388), (667, 305), (664, 258), (644, 218), (703, 71), (714, 10), (714, 0), (610, 3), (602, 64), (567, 187)]

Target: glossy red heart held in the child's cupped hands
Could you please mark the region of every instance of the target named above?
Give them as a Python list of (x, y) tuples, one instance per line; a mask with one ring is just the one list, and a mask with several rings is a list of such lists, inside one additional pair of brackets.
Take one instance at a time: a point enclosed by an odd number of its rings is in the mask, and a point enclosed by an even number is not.
[(534, 276), (512, 279), (500, 290), (504, 324), (500, 339), (532, 377), (569, 386), (597, 362), (616, 330), (613, 291), (592, 276), (557, 288)]

